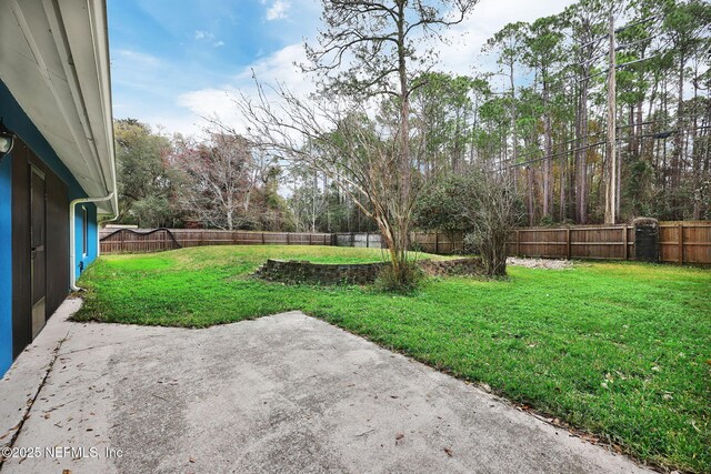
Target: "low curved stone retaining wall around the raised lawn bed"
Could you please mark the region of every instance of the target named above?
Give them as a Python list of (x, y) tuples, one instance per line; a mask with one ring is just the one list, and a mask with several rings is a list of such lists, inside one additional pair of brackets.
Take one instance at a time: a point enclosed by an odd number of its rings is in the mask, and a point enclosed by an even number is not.
[[(387, 264), (389, 263), (326, 264), (269, 259), (267, 263), (257, 270), (254, 276), (282, 283), (362, 285), (373, 283), (380, 270)], [(425, 273), (431, 275), (481, 274), (479, 259), (422, 260), (418, 264)]]

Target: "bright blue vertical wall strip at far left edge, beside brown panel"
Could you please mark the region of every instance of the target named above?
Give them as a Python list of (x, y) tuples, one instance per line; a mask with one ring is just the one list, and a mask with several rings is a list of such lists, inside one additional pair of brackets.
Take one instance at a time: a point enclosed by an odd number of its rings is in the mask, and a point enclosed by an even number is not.
[(12, 364), (11, 157), (0, 163), (0, 376)]

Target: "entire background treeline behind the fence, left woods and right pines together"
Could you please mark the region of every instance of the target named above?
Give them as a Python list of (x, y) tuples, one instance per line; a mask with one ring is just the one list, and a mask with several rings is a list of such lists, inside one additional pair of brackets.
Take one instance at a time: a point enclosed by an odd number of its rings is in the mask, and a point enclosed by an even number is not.
[[(610, 206), (617, 222), (711, 219), (710, 24), (711, 6), (702, 0), (581, 0), (533, 23), (507, 24), (483, 48), (498, 72), (409, 79), (408, 185), (425, 190), (423, 204), (431, 205), (427, 198), (448, 175), (475, 165), (510, 179), (525, 224), (601, 223)], [(369, 111), (338, 119), (328, 140), (314, 135), (289, 163), (264, 140), (252, 144), (224, 127), (197, 140), (118, 121), (120, 219), (141, 226), (375, 230), (367, 218), (373, 195), (353, 201), (362, 177), (348, 168), (362, 158), (370, 163), (363, 175), (382, 192), (403, 185), (389, 181), (392, 170), (383, 180), (372, 162), (403, 152), (404, 143), (389, 140), (402, 132), (402, 101), (377, 108), (373, 119), (359, 115)], [(350, 142), (362, 152), (339, 150)], [(350, 158), (331, 172), (309, 165), (328, 164), (319, 153)]]

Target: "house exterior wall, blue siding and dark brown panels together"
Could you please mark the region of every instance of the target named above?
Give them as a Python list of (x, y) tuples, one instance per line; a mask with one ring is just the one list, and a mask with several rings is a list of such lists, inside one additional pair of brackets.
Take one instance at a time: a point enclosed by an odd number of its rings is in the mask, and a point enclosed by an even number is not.
[[(48, 294), (48, 312), (57, 306), (62, 297), (69, 294), (69, 222), (68, 221), (68, 202), (79, 198), (86, 198), (87, 193), (79, 185), (76, 178), (67, 169), (59, 159), (57, 153), (49, 145), (44, 137), (39, 132), (37, 127), (30, 121), (27, 114), (17, 103), (8, 88), (0, 81), (0, 118), (4, 125), (17, 133), (21, 141), (18, 141), (13, 151), (4, 157), (0, 163), (0, 376), (10, 367), (14, 356), (23, 349), (24, 330), (20, 326), (22, 339), (18, 337), (18, 315), (30, 317), (24, 314), (27, 309), (26, 300), (29, 292), (28, 271), (18, 268), (19, 262), (29, 261), (29, 256), (19, 255), (29, 249), (29, 235), (23, 229), (26, 223), (22, 222), (24, 216), (29, 214), (29, 200), (23, 202), (22, 192), (18, 192), (18, 186), (26, 186), (24, 177), (29, 163), (40, 165), (47, 171), (47, 190), (46, 209), (47, 220), (47, 249), (54, 253), (50, 258), (47, 256), (48, 263), (52, 263), (51, 272), (48, 273), (47, 290), (53, 289), (54, 297)], [(22, 145), (26, 144), (27, 147)], [(13, 183), (13, 178), (14, 183)], [(20, 181), (18, 182), (18, 178)], [(87, 254), (82, 251), (82, 212), (81, 205), (87, 208), (89, 220), (88, 248)], [(23, 211), (27, 206), (27, 212)], [(63, 219), (60, 208), (67, 209), (66, 225), (58, 228), (50, 225), (50, 210), (53, 222)], [(80, 268), (86, 269), (97, 258), (97, 208), (91, 204), (80, 204), (77, 213), (77, 275), (80, 275)], [(14, 244), (13, 244), (14, 236)], [(63, 248), (63, 249), (62, 249)], [(66, 256), (64, 256), (66, 255)], [(57, 269), (57, 263), (63, 269)], [(13, 276), (14, 275), (14, 276)], [(18, 278), (21, 275), (21, 278)], [(59, 276), (58, 276), (59, 275)], [(66, 279), (64, 279), (66, 276)], [(52, 286), (53, 285), (53, 286)], [(57, 286), (59, 285), (59, 286)], [(63, 290), (62, 290), (63, 286)], [(16, 335), (13, 336), (13, 313), (16, 324)], [(47, 316), (51, 315), (47, 314)]]

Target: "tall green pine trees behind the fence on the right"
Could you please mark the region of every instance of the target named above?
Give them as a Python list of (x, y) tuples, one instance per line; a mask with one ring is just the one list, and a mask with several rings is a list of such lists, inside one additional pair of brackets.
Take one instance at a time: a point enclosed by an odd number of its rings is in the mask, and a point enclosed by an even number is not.
[[(602, 223), (608, 200), (615, 222), (711, 219), (710, 24), (702, 0), (582, 0), (507, 24), (483, 48), (498, 72), (413, 79), (418, 177), (484, 163), (511, 177), (531, 225)], [(338, 189), (314, 175), (297, 193), (320, 221)]]

